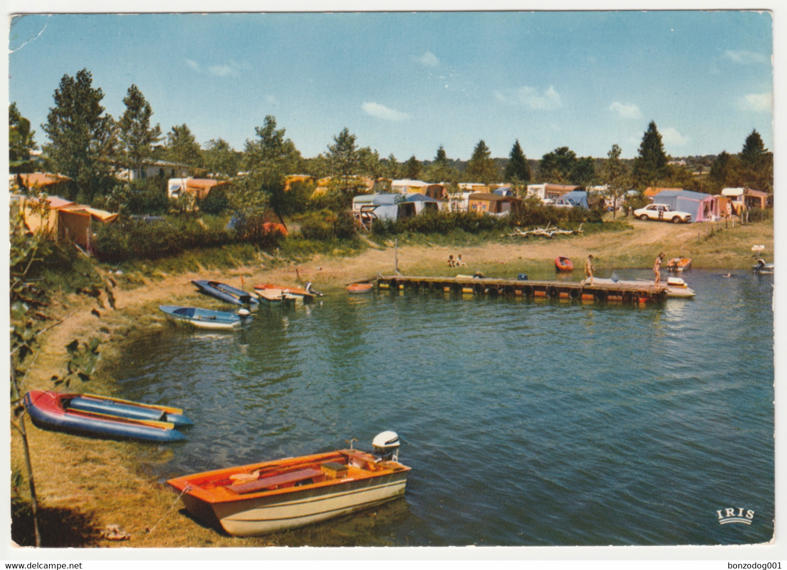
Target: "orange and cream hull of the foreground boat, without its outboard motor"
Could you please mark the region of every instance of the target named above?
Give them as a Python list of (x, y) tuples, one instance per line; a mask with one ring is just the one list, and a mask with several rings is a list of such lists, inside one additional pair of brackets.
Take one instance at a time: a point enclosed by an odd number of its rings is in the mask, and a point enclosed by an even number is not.
[[(301, 487), (283, 487), (261, 490), (233, 496), (227, 490), (227, 477), (237, 473), (263, 470), (267, 465), (275, 468), (297, 469), (298, 465), (317, 465), (328, 461), (341, 461), (341, 453), (349, 453), (349, 462), (354, 456), (368, 457), (357, 450), (323, 453), (314, 456), (296, 457), (290, 460), (269, 461), (241, 468), (221, 469), (194, 476), (171, 479), (168, 483), (182, 494), (183, 504), (194, 516), (209, 524), (220, 526), (234, 536), (256, 536), (270, 532), (302, 527), (342, 516), (361, 509), (368, 509), (392, 501), (405, 494), (410, 468), (396, 462), (386, 462), (379, 472), (368, 472), (364, 468), (349, 467), (347, 476), (340, 479), (327, 478)], [(345, 460), (348, 461), (348, 460)], [(287, 463), (290, 465), (286, 465)], [(295, 465), (297, 462), (297, 465)], [(373, 460), (371, 460), (373, 464)], [(393, 466), (393, 469), (390, 468)], [(297, 472), (297, 471), (296, 471)], [(320, 473), (320, 471), (313, 471)], [(269, 477), (272, 480), (275, 477)], [(319, 477), (318, 477), (319, 478)], [(216, 490), (213, 481), (224, 480), (224, 489)], [(264, 478), (260, 478), (264, 481)], [(310, 481), (312, 479), (309, 479)], [(254, 484), (254, 483), (252, 483)], [(264, 484), (264, 483), (261, 483)], [(188, 487), (188, 488), (187, 488)]]

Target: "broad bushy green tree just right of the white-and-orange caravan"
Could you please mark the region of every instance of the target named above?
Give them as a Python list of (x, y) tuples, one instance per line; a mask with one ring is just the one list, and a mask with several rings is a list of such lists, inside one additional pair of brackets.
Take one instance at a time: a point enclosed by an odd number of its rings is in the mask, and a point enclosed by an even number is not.
[(248, 172), (233, 193), (233, 205), (242, 212), (260, 213), (268, 205), (282, 220), (287, 211), (284, 179), (301, 165), (301, 153), (284, 136), (285, 129), (276, 128), (276, 118), (265, 117), (261, 127), (254, 128), (257, 139), (246, 141), (243, 167)]

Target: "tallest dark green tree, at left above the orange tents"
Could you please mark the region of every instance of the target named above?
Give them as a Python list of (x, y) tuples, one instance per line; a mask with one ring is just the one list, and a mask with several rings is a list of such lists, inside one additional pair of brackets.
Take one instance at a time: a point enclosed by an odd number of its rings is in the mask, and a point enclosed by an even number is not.
[(111, 159), (116, 154), (116, 125), (104, 114), (102, 90), (92, 83), (87, 69), (76, 77), (63, 76), (54, 91), (55, 106), (42, 124), (50, 139), (44, 146), (50, 168), (74, 180), (79, 198), (86, 202), (92, 202), (94, 195), (109, 194), (115, 184)]

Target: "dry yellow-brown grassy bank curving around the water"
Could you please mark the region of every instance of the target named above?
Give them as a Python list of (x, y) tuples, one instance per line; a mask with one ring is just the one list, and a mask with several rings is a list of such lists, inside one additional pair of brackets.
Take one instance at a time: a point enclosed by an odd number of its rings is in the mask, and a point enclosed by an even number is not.
[[(556, 239), (512, 239), (510, 244), (484, 246), (408, 246), (396, 248), (398, 268), (410, 275), (454, 275), (448, 268), (449, 254), (462, 254), (467, 268), (459, 272), (481, 271), (486, 276), (514, 276), (518, 272), (547, 272), (558, 255), (571, 257), (582, 278), (582, 260), (593, 254), (597, 274), (605, 276), (613, 268), (649, 268), (663, 251), (669, 257), (693, 258), (694, 268), (750, 271), (751, 247), (765, 246), (763, 254), (772, 259), (773, 223), (724, 228), (724, 224), (674, 225), (633, 220), (625, 231)], [(711, 228), (718, 231), (711, 232)], [(400, 244), (403, 240), (399, 240)], [(266, 268), (247, 266), (233, 270), (202, 271), (182, 275), (159, 275), (134, 289), (116, 287), (116, 309), (101, 309), (94, 300), (56, 298), (55, 320), (64, 319), (39, 337), (39, 350), (24, 379), (24, 389), (50, 389), (50, 378), (63, 372), (65, 346), (73, 339), (98, 337), (102, 344), (102, 364), (90, 383), (72, 384), (71, 390), (113, 394), (113, 367), (122, 365), (124, 347), (139, 335), (168, 326), (157, 311), (160, 304), (193, 304), (198, 299), (190, 279), (216, 279), (235, 286), (241, 279), (246, 288), (256, 283), (301, 283), (312, 281), (327, 294), (344, 294), (346, 283), (393, 272), (393, 242), (370, 246), (355, 257), (317, 255), (299, 264)], [(264, 262), (263, 262), (264, 264)], [(690, 273), (686, 279), (690, 282)], [(700, 292), (701, 294), (701, 292)], [(91, 311), (98, 309), (100, 316)], [(65, 390), (65, 388), (64, 388)], [(235, 539), (203, 527), (183, 513), (182, 505), (163, 483), (150, 476), (150, 465), (166, 462), (177, 446), (143, 446), (131, 442), (89, 439), (43, 431), (31, 425), (28, 438), (36, 490), (41, 512), (45, 546), (352, 546), (352, 539), (325, 525), (292, 534), (255, 539)], [(23, 465), (20, 438), (13, 432), (11, 461), (14, 469)], [(264, 458), (260, 458), (264, 459)], [(23, 469), (24, 472), (24, 469)], [(27, 482), (20, 487), (27, 496)], [(25, 521), (17, 522), (24, 526)], [(124, 541), (109, 541), (101, 532), (117, 524), (130, 535)], [(329, 525), (330, 526), (330, 525)], [(372, 524), (373, 526), (373, 524)], [(364, 546), (375, 546), (370, 542)], [(382, 546), (382, 543), (380, 543)]]

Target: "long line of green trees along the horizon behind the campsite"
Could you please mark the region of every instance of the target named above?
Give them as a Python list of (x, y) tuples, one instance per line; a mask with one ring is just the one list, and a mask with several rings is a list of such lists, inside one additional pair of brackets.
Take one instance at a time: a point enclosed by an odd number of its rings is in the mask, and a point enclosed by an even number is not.
[[(726, 150), (708, 161), (689, 165), (671, 164), (662, 137), (651, 121), (645, 131), (637, 157), (620, 158), (615, 144), (606, 159), (578, 157), (568, 146), (528, 160), (519, 139), (508, 158), (493, 158), (485, 141), (479, 140), (468, 161), (451, 159), (442, 145), (433, 159), (419, 161), (415, 155), (400, 162), (393, 154), (380, 157), (377, 150), (358, 146), (348, 128), (334, 135), (327, 150), (316, 157), (303, 157), (293, 141), (268, 115), (254, 129), (242, 151), (226, 140), (211, 139), (204, 148), (187, 124), (173, 125), (165, 135), (153, 124), (153, 109), (136, 85), (128, 88), (123, 102), (125, 111), (115, 120), (102, 106), (104, 94), (92, 84), (91, 72), (82, 69), (76, 76), (65, 75), (54, 91), (54, 106), (49, 109), (42, 130), (49, 142), (42, 145), (44, 167), (68, 176), (73, 181), (70, 199), (104, 205), (123, 204), (129, 189), (147, 187), (151, 182), (129, 184), (117, 179), (118, 169), (139, 171), (156, 161), (186, 165), (193, 176), (235, 179), (230, 204), (236, 210), (258, 210), (272, 206), (286, 210), (285, 176), (308, 173), (317, 179), (331, 177), (331, 190), (342, 198), (359, 187), (360, 177), (372, 179), (411, 178), (427, 182), (511, 183), (523, 189), (528, 183), (563, 183), (578, 186), (607, 184), (615, 195), (632, 188), (682, 187), (687, 190), (718, 194), (723, 187), (752, 187), (773, 191), (773, 154), (756, 130), (748, 135), (740, 153)], [(38, 146), (35, 131), (22, 117), (16, 103), (9, 107), (9, 159), (12, 168), (29, 168), (31, 150)], [(27, 166), (26, 166), (27, 165)], [(709, 168), (709, 170), (708, 170)], [(238, 177), (238, 172), (245, 176)], [(136, 187), (136, 188), (135, 188)], [(159, 194), (161, 192), (159, 191)], [(165, 198), (165, 196), (164, 196)], [(161, 197), (160, 197), (161, 199)]]

